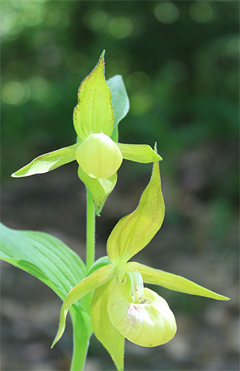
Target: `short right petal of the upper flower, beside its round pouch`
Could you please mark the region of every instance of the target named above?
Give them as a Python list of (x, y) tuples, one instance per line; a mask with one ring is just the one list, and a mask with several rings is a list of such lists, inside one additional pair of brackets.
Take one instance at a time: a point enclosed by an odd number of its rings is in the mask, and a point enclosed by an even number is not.
[(163, 160), (159, 154), (157, 154), (147, 144), (123, 144), (117, 143), (121, 154), (125, 160), (135, 161), (136, 163), (153, 163), (154, 161)]

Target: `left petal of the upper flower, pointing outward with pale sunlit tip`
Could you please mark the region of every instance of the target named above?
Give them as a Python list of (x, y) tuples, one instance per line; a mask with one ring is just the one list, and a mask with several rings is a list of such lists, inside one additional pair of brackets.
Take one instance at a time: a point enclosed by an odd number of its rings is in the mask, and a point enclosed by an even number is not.
[(12, 177), (19, 178), (21, 176), (30, 176), (34, 174), (47, 173), (60, 167), (64, 164), (71, 163), (75, 160), (75, 150), (79, 146), (79, 143), (69, 145), (69, 147), (64, 147), (57, 149), (56, 151), (49, 152), (48, 154), (42, 154), (32, 160), (31, 163), (25, 165), (18, 171), (12, 174)]

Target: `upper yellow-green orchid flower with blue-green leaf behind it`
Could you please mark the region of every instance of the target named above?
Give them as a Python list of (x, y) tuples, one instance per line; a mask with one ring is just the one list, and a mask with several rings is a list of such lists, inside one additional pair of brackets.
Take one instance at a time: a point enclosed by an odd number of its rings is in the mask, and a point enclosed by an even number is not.
[[(38, 156), (12, 174), (13, 177), (23, 177), (46, 173), (77, 160), (78, 176), (91, 192), (97, 215), (115, 187), (123, 158), (139, 163), (162, 159), (149, 145), (117, 143), (118, 123), (127, 114), (129, 101), (121, 76), (116, 75), (106, 82), (104, 53), (78, 90), (78, 103), (73, 110), (77, 143)], [(120, 90), (125, 94), (124, 104), (119, 104)]]

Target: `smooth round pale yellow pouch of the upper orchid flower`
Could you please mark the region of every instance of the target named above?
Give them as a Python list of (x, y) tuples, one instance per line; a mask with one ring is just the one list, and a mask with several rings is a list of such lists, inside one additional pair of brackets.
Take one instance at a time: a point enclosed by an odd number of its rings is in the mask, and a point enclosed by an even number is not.
[(104, 133), (91, 134), (75, 152), (77, 163), (91, 178), (110, 178), (121, 166), (117, 144)]

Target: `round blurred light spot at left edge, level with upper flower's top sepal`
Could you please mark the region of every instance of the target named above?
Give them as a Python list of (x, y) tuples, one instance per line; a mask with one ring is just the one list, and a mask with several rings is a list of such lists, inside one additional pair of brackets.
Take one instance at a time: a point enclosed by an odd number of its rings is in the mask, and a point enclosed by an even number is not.
[(30, 90), (24, 82), (9, 81), (3, 86), (1, 95), (7, 104), (23, 104), (29, 99)]

